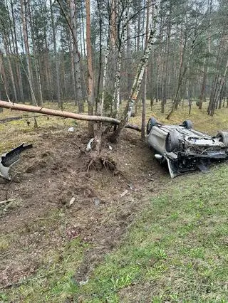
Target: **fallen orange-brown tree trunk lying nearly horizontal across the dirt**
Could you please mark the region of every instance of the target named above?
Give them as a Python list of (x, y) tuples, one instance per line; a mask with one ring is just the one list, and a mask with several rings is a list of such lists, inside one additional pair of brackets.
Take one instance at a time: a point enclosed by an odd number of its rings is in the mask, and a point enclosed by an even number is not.
[[(21, 110), (23, 112), (38, 112), (39, 114), (43, 114), (43, 115), (50, 115), (50, 116), (70, 118), (70, 119), (83, 120), (83, 121), (108, 122), (115, 125), (120, 124), (120, 121), (118, 119), (114, 119), (110, 117), (81, 115), (81, 114), (75, 114), (74, 112), (51, 110), (50, 108), (24, 105), (24, 104), (6, 102), (2, 100), (0, 100), (0, 107), (9, 108), (10, 110)], [(126, 124), (125, 127), (130, 129), (135, 129), (138, 132), (141, 131), (138, 125)]]

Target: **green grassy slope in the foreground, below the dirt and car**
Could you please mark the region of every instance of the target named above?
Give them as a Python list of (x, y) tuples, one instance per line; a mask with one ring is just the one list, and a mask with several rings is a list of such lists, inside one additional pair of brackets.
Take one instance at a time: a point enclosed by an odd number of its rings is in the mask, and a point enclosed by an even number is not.
[(4, 302), (227, 302), (227, 177), (221, 164), (148, 196), (119, 248), (86, 284), (74, 280), (84, 250), (74, 240), (52, 267), (7, 290)]

